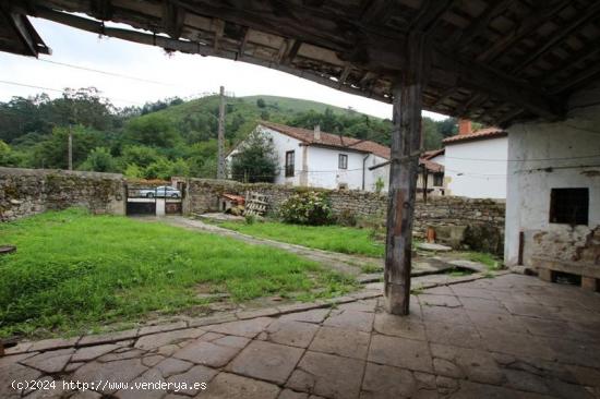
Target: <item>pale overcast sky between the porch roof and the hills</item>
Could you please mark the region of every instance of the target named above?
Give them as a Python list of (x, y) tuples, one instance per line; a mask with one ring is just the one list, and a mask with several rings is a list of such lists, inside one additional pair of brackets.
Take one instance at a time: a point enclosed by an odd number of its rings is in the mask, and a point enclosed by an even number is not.
[[(41, 86), (61, 90), (64, 87), (97, 87), (103, 96), (119, 107), (143, 105), (165, 97), (197, 97), (218, 92), (224, 85), (236, 96), (274, 95), (316, 100), (325, 104), (391, 118), (392, 106), (353, 96), (279, 71), (214, 57), (176, 52), (166, 55), (157, 47), (133, 44), (116, 38), (98, 37), (84, 31), (45, 20), (31, 19), (51, 56), (31, 57), (0, 52), (0, 81)], [(77, 70), (56, 63), (95, 69), (141, 80), (117, 77)], [(12, 96), (31, 96), (40, 88), (20, 87), (0, 83), (0, 100)], [(59, 96), (59, 92), (47, 93)], [(425, 112), (434, 119), (445, 117)]]

